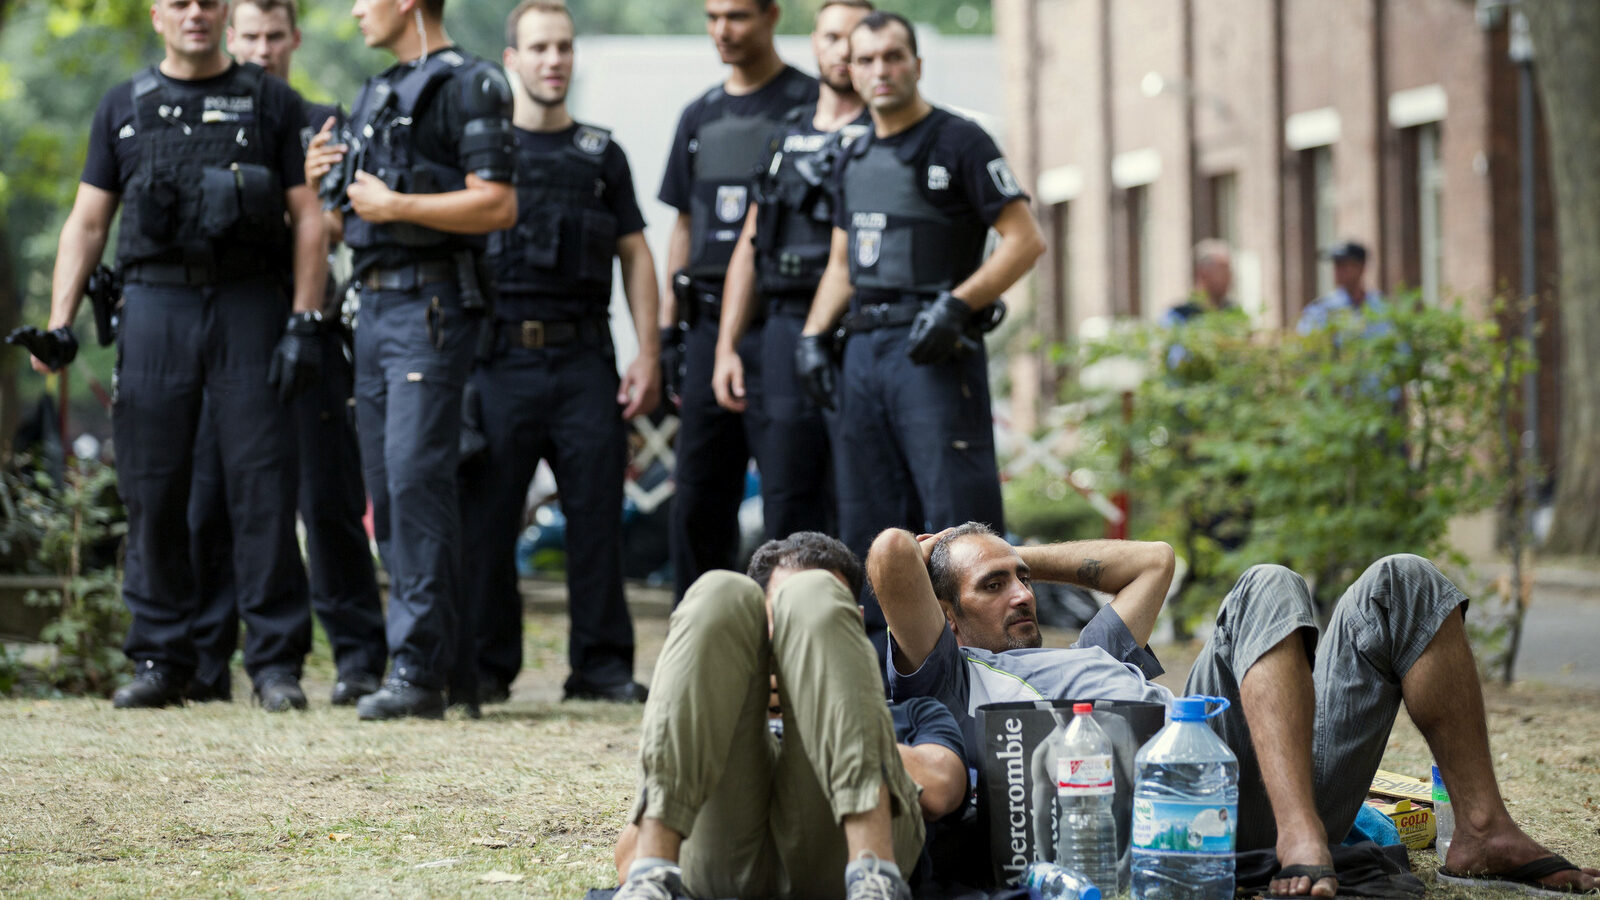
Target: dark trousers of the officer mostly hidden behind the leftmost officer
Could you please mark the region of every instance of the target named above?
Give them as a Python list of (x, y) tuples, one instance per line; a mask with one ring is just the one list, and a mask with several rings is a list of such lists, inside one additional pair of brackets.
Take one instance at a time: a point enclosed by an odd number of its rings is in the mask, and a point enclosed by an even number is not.
[[(344, 340), (334, 330), (323, 333), (320, 343), (318, 380), (291, 404), (299, 448), (299, 514), (310, 557), (310, 607), (328, 633), (339, 673), (362, 671), (381, 677), (389, 650), (371, 546), (362, 524), (366, 488), (350, 415), (355, 370), (344, 352)], [(218, 428), (210, 407), (202, 413), (195, 440), (189, 532), (200, 596), (195, 681), (227, 685), (229, 660), (238, 644), (238, 612), (234, 536), (227, 522)]]

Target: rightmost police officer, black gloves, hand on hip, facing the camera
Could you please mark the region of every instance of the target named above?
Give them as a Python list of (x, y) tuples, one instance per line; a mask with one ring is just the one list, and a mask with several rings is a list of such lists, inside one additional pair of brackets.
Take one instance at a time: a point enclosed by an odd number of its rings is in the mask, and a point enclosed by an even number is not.
[[(832, 251), (795, 352), (808, 389), (838, 405), (840, 535), (866, 554), (888, 527), (1003, 530), (987, 357), (974, 333), (1043, 239), (989, 135), (920, 96), (910, 22), (864, 18), (850, 59), (874, 133), (843, 160)], [(990, 227), (1000, 240), (984, 259)], [(827, 341), (846, 307), (835, 389)], [(866, 601), (882, 652), (882, 612)]]

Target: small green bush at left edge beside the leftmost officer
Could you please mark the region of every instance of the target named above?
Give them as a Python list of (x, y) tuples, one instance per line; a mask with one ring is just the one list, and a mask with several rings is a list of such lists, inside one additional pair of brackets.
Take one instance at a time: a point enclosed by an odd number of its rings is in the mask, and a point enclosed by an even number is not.
[(30, 559), (59, 589), (29, 591), (50, 610), (40, 641), (54, 649), (43, 666), (0, 655), (0, 693), (109, 693), (126, 669), (118, 649), (128, 629), (118, 546), (128, 525), (110, 466), (77, 461), (54, 485), (38, 471), (0, 476), (0, 554)]

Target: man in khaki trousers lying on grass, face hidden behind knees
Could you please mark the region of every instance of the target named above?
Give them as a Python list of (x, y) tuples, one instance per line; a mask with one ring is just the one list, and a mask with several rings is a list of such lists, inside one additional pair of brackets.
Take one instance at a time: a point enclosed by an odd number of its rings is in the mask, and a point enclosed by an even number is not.
[(861, 583), (845, 544), (800, 532), (749, 577), (690, 586), (645, 705), (616, 900), (910, 900), (923, 820), (966, 798), (965, 749), (941, 703), (885, 703)]

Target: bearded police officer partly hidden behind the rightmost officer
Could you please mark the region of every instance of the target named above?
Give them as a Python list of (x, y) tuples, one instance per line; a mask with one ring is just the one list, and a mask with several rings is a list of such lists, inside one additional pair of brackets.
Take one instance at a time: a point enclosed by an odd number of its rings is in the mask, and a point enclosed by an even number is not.
[(822, 74), (818, 99), (789, 110), (768, 143), (722, 295), (712, 375), (717, 404), (746, 412), (738, 346), (758, 303), (757, 293), (766, 307), (762, 359), (778, 360), (763, 370), (766, 428), (755, 453), (762, 463), (766, 540), (838, 528), (827, 423), (789, 360), (827, 266), (834, 234), (832, 170), (851, 141), (872, 128), (866, 104), (850, 83), (850, 32), (870, 11), (869, 0), (827, 0), (818, 10), (811, 30), (811, 50)]

